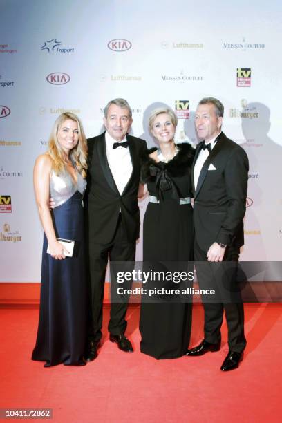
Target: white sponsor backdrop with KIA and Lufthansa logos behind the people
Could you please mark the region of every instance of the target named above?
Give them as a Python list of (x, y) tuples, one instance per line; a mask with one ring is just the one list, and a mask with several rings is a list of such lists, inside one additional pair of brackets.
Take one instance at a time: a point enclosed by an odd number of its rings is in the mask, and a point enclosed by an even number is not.
[(281, 11), (279, 0), (1, 0), (1, 281), (40, 280), (32, 168), (55, 118), (71, 109), (97, 135), (115, 97), (129, 101), (132, 133), (149, 146), (156, 105), (185, 109), (176, 139), (196, 144), (198, 100), (218, 97), (223, 130), (250, 159), (241, 260), (282, 261)]

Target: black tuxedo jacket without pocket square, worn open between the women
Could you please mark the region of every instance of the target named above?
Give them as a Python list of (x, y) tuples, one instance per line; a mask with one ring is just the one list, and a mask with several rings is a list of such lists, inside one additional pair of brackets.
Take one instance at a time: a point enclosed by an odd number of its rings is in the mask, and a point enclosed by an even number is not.
[(105, 133), (87, 140), (86, 214), (90, 242), (106, 244), (112, 241), (120, 211), (128, 242), (135, 243), (139, 237), (140, 214), (137, 195), (140, 182), (140, 156), (146, 149), (146, 142), (131, 135), (126, 135), (126, 139), (129, 142), (133, 170), (121, 195), (106, 157)]

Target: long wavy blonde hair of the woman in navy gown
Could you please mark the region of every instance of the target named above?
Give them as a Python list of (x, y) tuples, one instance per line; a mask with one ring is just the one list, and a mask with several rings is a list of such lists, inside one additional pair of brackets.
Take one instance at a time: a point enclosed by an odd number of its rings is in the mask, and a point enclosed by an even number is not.
[(87, 141), (84, 134), (82, 123), (80, 122), (77, 115), (71, 112), (62, 113), (59, 117), (55, 120), (55, 124), (53, 126), (53, 130), (51, 132), (49, 142), (48, 142), (48, 155), (52, 160), (52, 169), (55, 171), (56, 174), (64, 170), (66, 160), (64, 150), (59, 144), (58, 141), (58, 131), (59, 127), (67, 120), (71, 119), (74, 122), (77, 122), (78, 131), (79, 131), (79, 141), (77, 145), (71, 150), (70, 157), (77, 168), (77, 171), (82, 174), (82, 176), (86, 177), (86, 170), (87, 170)]

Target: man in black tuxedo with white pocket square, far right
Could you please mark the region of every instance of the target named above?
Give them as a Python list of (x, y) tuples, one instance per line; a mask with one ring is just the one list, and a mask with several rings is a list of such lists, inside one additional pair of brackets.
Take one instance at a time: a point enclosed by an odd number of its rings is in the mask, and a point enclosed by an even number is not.
[(244, 243), (243, 217), (247, 196), (247, 154), (221, 131), (223, 104), (204, 98), (195, 124), (202, 142), (192, 166), (194, 186), (194, 259), (200, 288), (214, 288), (215, 298), (203, 298), (205, 337), (186, 355), (220, 349), (223, 310), (228, 328), (229, 353), (221, 370), (233, 370), (243, 359), (246, 345), (241, 293), (236, 283), (240, 247)]

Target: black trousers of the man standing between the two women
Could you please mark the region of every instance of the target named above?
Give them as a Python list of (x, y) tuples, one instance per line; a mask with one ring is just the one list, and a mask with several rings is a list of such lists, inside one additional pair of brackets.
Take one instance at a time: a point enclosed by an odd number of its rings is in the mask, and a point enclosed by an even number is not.
[[(102, 313), (104, 299), (104, 282), (108, 259), (111, 262), (132, 262), (126, 266), (126, 270), (134, 267), (136, 243), (129, 243), (126, 239), (121, 215), (115, 230), (113, 240), (108, 244), (97, 244), (89, 240), (89, 272), (90, 272), (90, 316), (88, 327), (88, 340), (99, 341), (102, 337)], [(127, 283), (131, 286), (132, 281)], [(122, 296), (120, 302), (116, 299), (118, 288), (117, 281), (111, 272), (111, 313), (108, 330), (112, 335), (120, 335), (125, 332), (127, 322), (125, 320), (129, 296)], [(127, 288), (127, 287), (126, 287)]]

